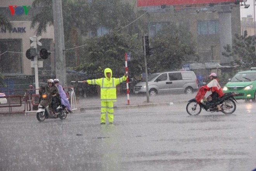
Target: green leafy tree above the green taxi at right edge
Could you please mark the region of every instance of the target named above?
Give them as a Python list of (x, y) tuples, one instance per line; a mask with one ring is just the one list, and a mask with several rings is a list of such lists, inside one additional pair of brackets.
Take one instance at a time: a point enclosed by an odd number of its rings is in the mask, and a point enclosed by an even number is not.
[(222, 55), (233, 56), (234, 64), (239, 65), (240, 69), (248, 69), (256, 66), (255, 46), (256, 37), (248, 36), (247, 31), (244, 31), (244, 35), (235, 35), (232, 47), (224, 46), (225, 52)]

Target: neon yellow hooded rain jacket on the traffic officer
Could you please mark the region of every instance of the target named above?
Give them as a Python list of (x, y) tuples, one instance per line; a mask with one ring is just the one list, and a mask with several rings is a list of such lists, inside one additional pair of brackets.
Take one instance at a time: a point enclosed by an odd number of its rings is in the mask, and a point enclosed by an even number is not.
[[(111, 73), (111, 77), (107, 78), (107, 73)], [(112, 78), (112, 70), (104, 69), (105, 78), (86, 80), (88, 84), (100, 86), (100, 100), (102, 102), (116, 102), (116, 85), (126, 81), (126, 77)]]

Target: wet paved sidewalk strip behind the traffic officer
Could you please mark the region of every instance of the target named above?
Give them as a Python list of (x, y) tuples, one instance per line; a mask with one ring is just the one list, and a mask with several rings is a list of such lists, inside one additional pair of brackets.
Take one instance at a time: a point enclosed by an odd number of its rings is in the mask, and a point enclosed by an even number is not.
[[(127, 95), (122, 94), (117, 97), (114, 102), (114, 108), (128, 108), (128, 107), (142, 107), (147, 105), (175, 105), (176, 103), (188, 102), (195, 98), (196, 93), (192, 94), (160, 94), (154, 97), (149, 97), (147, 103), (147, 96), (142, 94), (131, 94), (130, 104), (127, 102)], [(80, 98), (77, 101), (78, 111), (100, 109), (100, 97)]]

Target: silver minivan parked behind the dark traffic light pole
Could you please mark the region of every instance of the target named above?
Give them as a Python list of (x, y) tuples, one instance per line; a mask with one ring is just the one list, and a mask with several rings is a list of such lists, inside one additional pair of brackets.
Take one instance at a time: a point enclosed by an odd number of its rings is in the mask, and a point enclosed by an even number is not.
[[(191, 94), (198, 89), (197, 78), (193, 71), (170, 71), (155, 73), (148, 76), (149, 95), (157, 93)], [(135, 85), (135, 93), (146, 93), (146, 81)]]

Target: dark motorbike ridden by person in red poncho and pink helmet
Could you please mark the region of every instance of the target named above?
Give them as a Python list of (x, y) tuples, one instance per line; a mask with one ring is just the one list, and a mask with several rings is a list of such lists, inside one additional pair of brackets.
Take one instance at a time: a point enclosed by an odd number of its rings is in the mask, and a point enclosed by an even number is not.
[[(203, 88), (203, 87), (202, 87)], [(200, 90), (200, 89), (199, 89)], [(198, 95), (198, 94), (197, 94)], [(218, 112), (218, 108), (216, 104), (220, 105), (221, 112), (224, 114), (232, 114), (235, 112), (237, 102), (234, 98), (236, 93), (225, 93), (221, 98), (217, 101), (207, 101), (206, 102), (197, 102), (196, 98), (189, 100), (186, 110), (189, 115), (198, 115), (201, 113), (202, 109), (207, 112)]]

